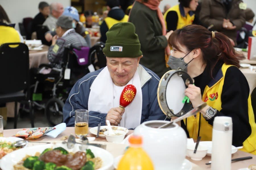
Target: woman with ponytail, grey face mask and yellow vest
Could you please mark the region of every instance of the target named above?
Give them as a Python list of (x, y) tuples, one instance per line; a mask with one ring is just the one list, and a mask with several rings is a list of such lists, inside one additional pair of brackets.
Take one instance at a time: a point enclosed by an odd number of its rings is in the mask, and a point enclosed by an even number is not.
[(206, 102), (207, 107), (195, 116), (181, 121), (190, 138), (212, 140), (215, 116), (229, 116), (233, 122), (232, 145), (256, 155), (256, 124), (249, 85), (239, 70), (240, 60), (228, 37), (210, 32), (201, 25), (187, 25), (174, 31), (169, 38), (173, 51), (168, 64), (180, 67), (194, 78), (185, 90), (193, 107)]

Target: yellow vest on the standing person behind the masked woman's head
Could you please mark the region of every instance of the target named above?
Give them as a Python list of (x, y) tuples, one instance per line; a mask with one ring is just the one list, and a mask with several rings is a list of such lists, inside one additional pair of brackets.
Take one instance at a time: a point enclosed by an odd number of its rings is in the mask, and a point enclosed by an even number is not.
[(176, 29), (181, 29), (182, 27), (186, 25), (191, 25), (195, 19), (195, 14), (192, 16), (189, 15), (189, 13), (184, 17), (181, 15), (179, 11), (179, 5), (175, 5), (171, 8), (169, 8), (165, 13), (164, 13), (164, 22), (165, 26), (167, 28), (167, 22), (166, 22), (166, 15), (168, 14), (169, 11), (176, 11), (178, 15), (178, 23), (177, 23), (177, 28)]

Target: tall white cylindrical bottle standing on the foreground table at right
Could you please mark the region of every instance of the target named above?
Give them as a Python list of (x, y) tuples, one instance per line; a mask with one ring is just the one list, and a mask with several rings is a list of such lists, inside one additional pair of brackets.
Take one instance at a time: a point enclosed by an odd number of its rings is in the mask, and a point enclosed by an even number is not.
[(232, 118), (216, 116), (212, 129), (212, 170), (231, 170)]

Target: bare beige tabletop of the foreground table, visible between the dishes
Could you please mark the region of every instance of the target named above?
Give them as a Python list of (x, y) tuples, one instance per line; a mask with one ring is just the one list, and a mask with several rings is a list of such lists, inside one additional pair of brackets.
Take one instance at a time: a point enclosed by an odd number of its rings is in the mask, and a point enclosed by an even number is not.
[[(22, 129), (8, 129), (8, 130), (4, 130), (4, 136), (5, 137), (10, 137), (13, 134), (15, 134), (17, 131), (20, 131)], [(61, 134), (59, 134), (59, 136), (57, 136), (55, 139), (48, 137), (48, 136), (43, 136), (39, 139), (30, 139), (30, 141), (60, 141), (61, 138), (65, 137), (65, 136), (69, 136), (70, 134), (74, 134), (75, 129), (74, 127), (67, 127), (65, 131), (63, 131)], [(127, 133), (127, 135), (133, 133), (133, 130), (129, 130), (129, 132)], [(96, 137), (95, 135), (91, 134), (90, 132), (88, 133), (88, 137)], [(107, 148), (106, 150), (108, 150), (113, 157), (117, 157), (121, 154), (123, 154), (123, 151), (125, 149), (125, 147), (127, 145), (125, 144), (115, 144), (115, 143), (109, 143), (106, 141), (105, 138), (96, 138), (95, 141), (92, 141), (90, 143), (101, 143), (101, 144), (107, 144)], [(238, 150), (238, 152), (232, 154), (232, 159), (233, 158), (240, 158), (240, 157), (245, 157), (245, 156), (252, 156), (253, 159), (250, 160), (243, 160), (243, 161), (238, 161), (238, 162), (233, 162), (232, 165), (232, 170), (237, 170), (240, 168), (245, 168), (248, 167), (251, 164), (255, 164), (256, 163), (256, 155), (252, 155), (243, 151)], [(190, 162), (192, 162), (192, 170), (202, 170), (202, 169), (210, 169), (210, 165), (205, 165), (205, 163), (209, 162), (211, 160), (210, 156), (206, 156), (205, 158), (203, 158), (203, 160), (201, 161), (194, 161), (191, 160), (189, 157), (186, 157), (187, 160), (189, 160)], [(111, 170), (113, 170), (114, 168), (112, 167)]]

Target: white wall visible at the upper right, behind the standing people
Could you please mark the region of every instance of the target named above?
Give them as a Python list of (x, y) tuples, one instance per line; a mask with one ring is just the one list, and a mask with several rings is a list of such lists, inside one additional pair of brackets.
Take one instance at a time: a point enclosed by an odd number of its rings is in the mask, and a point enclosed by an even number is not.
[[(201, 0), (204, 1), (204, 0)], [(248, 8), (251, 8), (253, 12), (255, 13), (254, 20), (256, 20), (256, 0), (243, 0), (244, 3), (247, 4)], [(164, 10), (164, 5), (170, 4), (171, 6), (177, 5), (179, 2), (178, 0), (163, 0), (160, 2), (159, 8), (161, 11)]]

